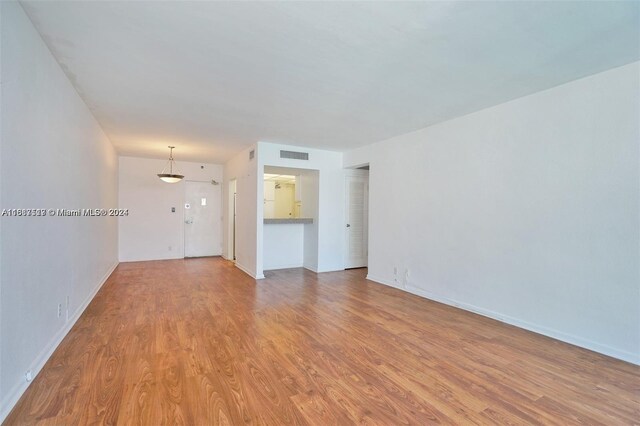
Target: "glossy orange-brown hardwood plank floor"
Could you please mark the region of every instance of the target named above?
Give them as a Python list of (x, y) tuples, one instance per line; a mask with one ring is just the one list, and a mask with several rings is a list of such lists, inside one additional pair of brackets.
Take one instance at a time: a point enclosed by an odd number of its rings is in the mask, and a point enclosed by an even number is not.
[(640, 421), (640, 367), (364, 277), (121, 264), (5, 424)]

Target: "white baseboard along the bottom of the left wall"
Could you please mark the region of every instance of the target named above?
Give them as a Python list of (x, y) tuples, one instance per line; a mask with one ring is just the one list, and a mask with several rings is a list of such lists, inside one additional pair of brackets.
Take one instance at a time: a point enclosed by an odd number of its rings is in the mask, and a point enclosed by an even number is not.
[[(104, 283), (107, 282), (107, 279), (116, 269), (118, 263), (119, 262), (115, 262), (113, 266), (109, 268), (107, 273), (97, 283), (96, 287), (91, 291), (89, 296), (82, 302), (82, 304), (78, 306), (73, 316), (69, 318), (69, 321), (67, 321), (64, 326), (60, 330), (58, 330), (58, 332), (49, 341), (49, 344), (47, 344), (42, 352), (40, 352), (40, 354), (31, 362), (29, 369), (33, 374), (34, 380), (37, 377), (38, 373), (40, 373), (40, 370), (42, 370), (42, 367), (44, 367), (46, 362), (49, 360), (53, 352), (58, 348), (58, 345), (60, 345), (62, 339), (64, 339), (67, 333), (69, 333), (69, 330), (73, 328), (76, 321), (78, 321), (84, 310), (87, 308), (87, 306), (89, 306), (89, 303), (91, 303)], [(2, 401), (0, 401), (0, 424), (7, 418), (14, 405), (16, 405), (22, 394), (24, 394), (31, 383), (33, 383), (33, 380), (31, 380), (30, 382), (21, 380), (13, 385), (13, 387), (5, 394), (4, 398), (2, 398)]]

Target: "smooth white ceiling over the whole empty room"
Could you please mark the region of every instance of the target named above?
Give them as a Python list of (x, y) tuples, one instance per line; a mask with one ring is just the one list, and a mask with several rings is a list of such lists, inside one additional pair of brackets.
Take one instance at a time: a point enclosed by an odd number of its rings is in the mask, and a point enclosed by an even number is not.
[(640, 58), (639, 2), (23, 1), (119, 153), (348, 150)]

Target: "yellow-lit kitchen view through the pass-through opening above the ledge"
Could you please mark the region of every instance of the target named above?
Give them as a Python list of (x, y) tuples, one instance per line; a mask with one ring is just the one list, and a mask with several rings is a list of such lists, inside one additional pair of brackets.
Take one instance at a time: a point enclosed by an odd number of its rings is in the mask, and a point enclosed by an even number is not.
[(264, 174), (264, 217), (266, 219), (299, 218), (300, 176)]

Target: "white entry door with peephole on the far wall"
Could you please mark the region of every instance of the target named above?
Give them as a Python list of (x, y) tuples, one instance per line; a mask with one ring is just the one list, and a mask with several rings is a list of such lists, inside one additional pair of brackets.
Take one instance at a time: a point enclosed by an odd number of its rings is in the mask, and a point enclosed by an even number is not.
[(218, 256), (222, 252), (220, 185), (185, 182), (184, 257)]

